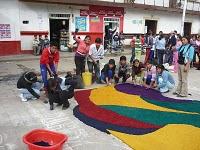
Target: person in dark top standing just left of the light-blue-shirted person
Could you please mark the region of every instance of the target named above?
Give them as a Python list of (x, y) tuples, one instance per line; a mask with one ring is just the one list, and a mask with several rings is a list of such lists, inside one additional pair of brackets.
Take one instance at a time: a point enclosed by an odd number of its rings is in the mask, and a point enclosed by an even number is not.
[(169, 45), (169, 54), (167, 54), (168, 58), (166, 59), (165, 63), (169, 63), (169, 65), (172, 65), (172, 62), (173, 62), (173, 49), (176, 46), (176, 36), (175, 36), (174, 31), (171, 32), (171, 35), (170, 35), (170, 37), (168, 39), (167, 44)]

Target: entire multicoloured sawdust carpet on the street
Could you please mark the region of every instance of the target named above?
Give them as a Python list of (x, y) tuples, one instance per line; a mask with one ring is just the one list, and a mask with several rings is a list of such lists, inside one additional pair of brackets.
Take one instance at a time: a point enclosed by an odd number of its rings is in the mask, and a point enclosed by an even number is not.
[(74, 115), (136, 150), (200, 150), (200, 101), (119, 84), (75, 93)]

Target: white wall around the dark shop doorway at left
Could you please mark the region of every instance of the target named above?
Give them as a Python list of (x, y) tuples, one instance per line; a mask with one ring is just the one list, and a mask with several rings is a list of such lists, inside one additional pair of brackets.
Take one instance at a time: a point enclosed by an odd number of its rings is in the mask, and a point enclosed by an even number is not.
[[(74, 17), (70, 17), (69, 20), (69, 31), (73, 32), (75, 31), (75, 17), (80, 16), (80, 9), (88, 9), (88, 7), (20, 2), (20, 30), (49, 31), (50, 14), (73, 14)], [(29, 24), (23, 24), (23, 21), (29, 21)], [(89, 31), (89, 18), (87, 18), (87, 31)], [(21, 36), (22, 50), (32, 49), (32, 39), (33, 36)]]

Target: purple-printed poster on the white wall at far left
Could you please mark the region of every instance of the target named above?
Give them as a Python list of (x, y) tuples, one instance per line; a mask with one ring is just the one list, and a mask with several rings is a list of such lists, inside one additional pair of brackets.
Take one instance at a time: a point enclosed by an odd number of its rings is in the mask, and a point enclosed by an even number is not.
[(0, 24), (0, 39), (11, 38), (10, 24)]

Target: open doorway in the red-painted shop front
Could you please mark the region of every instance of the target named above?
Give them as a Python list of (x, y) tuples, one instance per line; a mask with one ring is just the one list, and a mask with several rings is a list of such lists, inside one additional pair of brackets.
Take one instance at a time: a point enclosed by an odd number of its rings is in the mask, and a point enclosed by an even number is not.
[(108, 42), (108, 33), (109, 29), (114, 30), (117, 27), (116, 32), (119, 33), (119, 27), (120, 27), (120, 19), (119, 18), (113, 18), (113, 17), (106, 17), (104, 18), (104, 26), (103, 26), (103, 42), (104, 47)]

